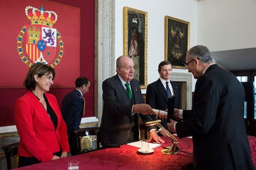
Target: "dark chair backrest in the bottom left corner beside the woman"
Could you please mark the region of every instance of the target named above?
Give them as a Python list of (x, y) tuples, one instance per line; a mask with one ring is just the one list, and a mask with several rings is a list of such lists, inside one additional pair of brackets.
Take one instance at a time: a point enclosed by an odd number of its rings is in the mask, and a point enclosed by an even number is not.
[[(18, 164), (19, 164), (18, 147), (19, 147), (19, 142), (1, 147), (2, 150), (4, 150), (4, 154), (6, 155), (8, 170), (18, 168)], [(14, 161), (12, 161), (13, 157), (14, 157)]]

